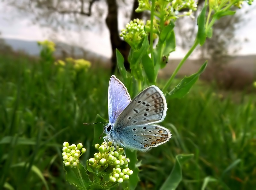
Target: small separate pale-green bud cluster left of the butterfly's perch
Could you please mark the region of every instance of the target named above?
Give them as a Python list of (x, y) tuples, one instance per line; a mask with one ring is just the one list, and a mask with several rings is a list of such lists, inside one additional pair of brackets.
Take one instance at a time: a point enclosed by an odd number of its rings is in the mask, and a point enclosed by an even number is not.
[[(76, 146), (75, 144), (68, 145), (68, 142), (64, 142), (62, 148), (63, 164), (65, 164), (65, 166), (76, 167), (79, 162), (79, 157), (86, 152), (86, 149), (82, 147), (82, 143), (78, 143)], [(82, 150), (80, 151), (80, 149)]]

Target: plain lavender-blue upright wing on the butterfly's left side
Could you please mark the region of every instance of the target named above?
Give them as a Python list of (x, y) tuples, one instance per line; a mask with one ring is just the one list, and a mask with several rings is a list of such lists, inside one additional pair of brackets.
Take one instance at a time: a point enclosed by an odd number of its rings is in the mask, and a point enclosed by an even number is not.
[(131, 97), (124, 84), (112, 75), (108, 85), (108, 119), (115, 123), (116, 118), (131, 102)]

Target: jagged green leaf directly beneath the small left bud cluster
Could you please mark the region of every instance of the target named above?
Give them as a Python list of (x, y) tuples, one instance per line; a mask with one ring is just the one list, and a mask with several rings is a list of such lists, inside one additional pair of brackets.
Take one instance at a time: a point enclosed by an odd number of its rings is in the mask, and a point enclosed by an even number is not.
[(86, 174), (86, 169), (81, 163), (78, 163), (76, 168), (65, 166), (66, 180), (70, 185), (74, 185), (79, 189), (89, 189), (89, 185), (92, 181), (89, 179), (89, 175)]

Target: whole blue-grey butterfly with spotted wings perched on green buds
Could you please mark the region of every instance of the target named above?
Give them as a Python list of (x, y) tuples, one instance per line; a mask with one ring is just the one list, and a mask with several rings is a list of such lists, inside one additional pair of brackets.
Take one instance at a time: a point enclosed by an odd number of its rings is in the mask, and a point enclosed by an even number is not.
[(108, 141), (125, 148), (147, 151), (170, 140), (167, 128), (155, 123), (164, 120), (167, 104), (155, 85), (140, 92), (133, 100), (124, 84), (112, 75), (108, 86), (108, 119), (104, 127)]

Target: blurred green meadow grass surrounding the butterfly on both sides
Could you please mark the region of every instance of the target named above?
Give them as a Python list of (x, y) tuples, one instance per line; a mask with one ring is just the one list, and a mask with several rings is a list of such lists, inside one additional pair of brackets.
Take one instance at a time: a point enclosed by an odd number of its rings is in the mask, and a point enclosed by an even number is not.
[[(109, 70), (59, 70), (26, 55), (0, 55), (0, 188), (74, 189), (65, 180), (62, 143), (83, 143), (82, 163), (93, 157), (92, 123), (108, 118)], [(163, 87), (163, 82), (158, 84)], [(179, 189), (253, 189), (256, 186), (255, 95), (220, 98), (197, 83), (183, 99), (168, 99), (163, 126), (172, 138), (141, 160), (137, 189), (159, 189), (177, 154), (194, 153), (183, 165)], [(102, 128), (103, 129), (103, 128)], [(208, 176), (212, 178), (207, 178)]]

